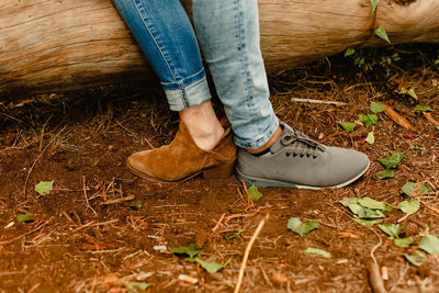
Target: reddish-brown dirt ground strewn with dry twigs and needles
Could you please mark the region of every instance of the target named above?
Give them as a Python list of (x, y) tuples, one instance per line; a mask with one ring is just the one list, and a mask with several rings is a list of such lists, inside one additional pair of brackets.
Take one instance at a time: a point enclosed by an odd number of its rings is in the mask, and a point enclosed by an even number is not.
[[(125, 292), (128, 282), (150, 283), (150, 292), (233, 292), (246, 246), (267, 213), (240, 292), (371, 292), (372, 249), (389, 270), (389, 292), (438, 292), (436, 255), (419, 268), (409, 264), (402, 253), (414, 247), (396, 247), (376, 226), (352, 222), (339, 203), (370, 196), (396, 205), (406, 199), (399, 189), (407, 180), (423, 183), (430, 192), (418, 196), (420, 211), (402, 218), (394, 210), (383, 223), (401, 219), (403, 234), (416, 241), (427, 232), (439, 236), (438, 131), (413, 111), (416, 104), (429, 105), (439, 120), (438, 68), (426, 60), (409, 70), (395, 65), (382, 81), (339, 59), (279, 72), (270, 79), (271, 99), (279, 116), (296, 129), (326, 145), (364, 151), (370, 169), (342, 189), (259, 189), (263, 195), (254, 205), (235, 174), (165, 184), (126, 170), (130, 154), (171, 142), (178, 128), (159, 90), (114, 86), (0, 103), (0, 292)], [(418, 101), (395, 93), (403, 87), (416, 89)], [(370, 113), (372, 101), (392, 106), (419, 131), (407, 131), (383, 113), (369, 131), (359, 125), (348, 134), (338, 125)], [(371, 129), (374, 144), (358, 138)], [(375, 173), (384, 168), (376, 159), (394, 151), (406, 155), (395, 178), (379, 180)], [(52, 180), (49, 194), (35, 192), (40, 181)], [(138, 211), (131, 207), (136, 201), (143, 203)], [(27, 212), (34, 222), (19, 223), (16, 215)], [(291, 217), (320, 226), (300, 237), (286, 228)], [(225, 239), (239, 230), (240, 236)], [(201, 259), (228, 264), (209, 273), (170, 252), (191, 243), (202, 248)], [(307, 247), (331, 258), (306, 255)], [(199, 282), (179, 281), (180, 274)]]

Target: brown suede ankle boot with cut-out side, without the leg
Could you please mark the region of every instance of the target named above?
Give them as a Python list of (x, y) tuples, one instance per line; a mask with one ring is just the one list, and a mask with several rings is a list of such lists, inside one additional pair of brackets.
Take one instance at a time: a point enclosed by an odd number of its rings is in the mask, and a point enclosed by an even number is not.
[(227, 178), (236, 159), (236, 147), (228, 127), (211, 149), (200, 149), (184, 123), (180, 122), (170, 145), (131, 155), (126, 166), (133, 173), (162, 182), (185, 181), (200, 173), (204, 178)]

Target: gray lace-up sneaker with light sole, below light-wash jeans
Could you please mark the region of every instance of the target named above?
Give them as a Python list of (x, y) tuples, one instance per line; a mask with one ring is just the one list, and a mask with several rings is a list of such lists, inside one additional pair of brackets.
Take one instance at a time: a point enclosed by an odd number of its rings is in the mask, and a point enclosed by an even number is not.
[(238, 149), (236, 170), (246, 184), (341, 188), (359, 179), (369, 168), (369, 158), (360, 151), (324, 146), (283, 122), (280, 125), (281, 137), (263, 156)]

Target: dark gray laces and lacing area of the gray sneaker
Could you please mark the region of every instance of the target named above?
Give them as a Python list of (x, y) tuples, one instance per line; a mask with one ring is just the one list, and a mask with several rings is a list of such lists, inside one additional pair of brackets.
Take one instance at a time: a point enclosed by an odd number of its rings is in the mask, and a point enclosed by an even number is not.
[(281, 137), (281, 144), (289, 148), (286, 156), (306, 156), (317, 158), (318, 150), (324, 151), (325, 147), (311, 139), (307, 135), (293, 131)]

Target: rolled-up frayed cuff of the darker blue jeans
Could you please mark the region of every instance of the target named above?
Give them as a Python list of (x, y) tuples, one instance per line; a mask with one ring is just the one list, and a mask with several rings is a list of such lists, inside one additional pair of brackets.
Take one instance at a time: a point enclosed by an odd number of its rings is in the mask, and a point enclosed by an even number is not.
[(212, 98), (205, 75), (201, 79), (177, 89), (169, 87), (169, 84), (161, 84), (171, 111), (181, 111), (185, 108), (201, 104)]

